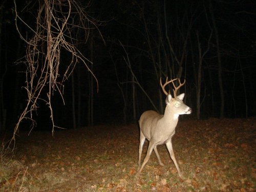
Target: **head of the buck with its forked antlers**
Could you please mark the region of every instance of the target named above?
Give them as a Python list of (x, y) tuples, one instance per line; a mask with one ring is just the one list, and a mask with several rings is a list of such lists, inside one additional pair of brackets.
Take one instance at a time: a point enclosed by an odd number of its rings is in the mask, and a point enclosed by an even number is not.
[[(177, 79), (177, 78), (176, 78)], [(192, 112), (191, 108), (189, 106), (185, 105), (183, 103), (184, 93), (177, 96), (177, 91), (185, 84), (186, 80), (184, 80), (183, 83), (180, 82), (179, 79), (179, 86), (176, 87), (174, 84), (174, 81), (176, 79), (171, 79), (168, 81), (168, 77), (166, 78), (166, 81), (164, 84), (162, 84), (162, 80), (160, 78), (160, 84), (162, 87), (162, 90), (164, 94), (167, 96), (165, 99), (166, 107), (172, 109), (176, 115), (182, 115), (182, 114), (190, 114)], [(174, 97), (170, 93), (167, 93), (165, 90), (165, 86), (169, 84), (170, 82), (173, 83), (174, 86)]]

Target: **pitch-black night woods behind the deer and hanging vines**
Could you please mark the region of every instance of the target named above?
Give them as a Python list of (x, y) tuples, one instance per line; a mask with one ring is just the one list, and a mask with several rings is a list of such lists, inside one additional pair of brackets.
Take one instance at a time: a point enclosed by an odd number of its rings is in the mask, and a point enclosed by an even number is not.
[[(78, 2), (89, 5), (86, 1)], [(24, 10), (26, 5), (30, 6)], [(32, 15), (36, 15), (37, 6), (30, 1), (18, 1), (17, 12), (33, 26), (35, 18)], [(23, 88), (26, 86), (24, 71), (27, 67), (24, 63), (15, 62), (25, 56), (27, 45), (17, 33), (13, 8), (12, 1), (1, 3), (2, 131), (4, 126), (7, 130), (13, 129), (27, 99)], [(159, 79), (154, 66), (164, 79), (166, 76), (180, 77), (181, 81), (186, 79), (181, 92), (185, 92), (185, 103), (193, 113), (182, 118), (197, 118), (198, 39), (202, 52), (209, 48), (202, 61), (200, 118), (255, 116), (255, 8), (254, 1), (91, 1), (86, 9), (99, 21), (101, 34), (96, 29), (92, 30), (91, 40), (87, 42), (83, 40), (85, 34), (79, 34), (81, 44), (78, 48), (93, 61), (91, 69), (98, 80), (98, 93), (96, 81), (87, 68), (77, 65), (73, 72), (76, 125), (137, 122), (143, 111), (155, 110), (138, 83), (133, 83), (131, 69), (125, 62), (127, 55), (138, 82), (161, 113), (165, 98), (162, 94), (162, 100), (159, 99)], [(218, 29), (219, 51), (210, 11), (214, 13)], [(22, 22), (17, 24), (23, 35), (28, 38), (33, 35)], [(170, 54), (166, 36), (173, 45), (174, 54)], [(220, 112), (218, 53), (225, 103), (223, 116)], [(172, 56), (176, 55), (180, 60), (183, 54), (182, 73), (179, 74), (180, 64)], [(69, 65), (68, 57), (63, 52), (61, 65)], [(167, 70), (169, 68), (172, 70)], [(72, 128), (72, 81), (69, 78), (64, 84), (65, 105), (58, 92), (53, 94), (54, 119), (56, 125)], [(41, 97), (46, 98), (46, 93), (47, 90), (42, 92)], [(33, 118), (37, 121), (35, 129), (51, 129), (50, 111), (45, 102), (38, 102)], [(24, 121), (22, 128), (29, 125), (29, 121)]]

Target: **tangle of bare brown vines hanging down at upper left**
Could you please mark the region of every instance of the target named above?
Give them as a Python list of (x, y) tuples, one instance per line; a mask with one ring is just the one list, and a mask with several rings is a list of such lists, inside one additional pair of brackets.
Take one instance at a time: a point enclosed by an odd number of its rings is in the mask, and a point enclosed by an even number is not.
[[(31, 130), (36, 124), (33, 119), (33, 112), (38, 108), (39, 99), (45, 101), (49, 106), (52, 121), (52, 134), (54, 133), (54, 128), (59, 127), (54, 122), (51, 98), (54, 92), (58, 92), (63, 103), (65, 103), (62, 97), (64, 89), (63, 82), (68, 79), (78, 62), (79, 64), (83, 63), (97, 82), (96, 77), (90, 70), (89, 65), (92, 65), (92, 62), (88, 60), (74, 44), (74, 41), (77, 40), (74, 34), (82, 30), (87, 40), (90, 29), (98, 30), (98, 22), (90, 17), (87, 14), (86, 8), (82, 7), (78, 2), (79, 1), (75, 0), (38, 0), (34, 4), (34, 6), (38, 6), (38, 9), (35, 17), (36, 25), (33, 28), (26, 23), (25, 19), (19, 17), (14, 0), (16, 29), (20, 38), (27, 44), (26, 55), (18, 62), (25, 63), (27, 66), (25, 72), (26, 86), (24, 88), (27, 91), (28, 97), (26, 107), (22, 114), (20, 114), (14, 127), (13, 136), (11, 138), (14, 145), (15, 135), (23, 120), (29, 119), (32, 121)], [(90, 5), (88, 5), (87, 8), (89, 6)], [(29, 29), (29, 33), (33, 34), (32, 37), (28, 38), (28, 32), (24, 35), (23, 32), (19, 30), (18, 22), (21, 22)], [(69, 65), (61, 65), (60, 58), (61, 56), (63, 57), (62, 52), (71, 54)], [(60, 67), (65, 70), (59, 70)], [(47, 97), (42, 97), (43, 93), (47, 93)]]

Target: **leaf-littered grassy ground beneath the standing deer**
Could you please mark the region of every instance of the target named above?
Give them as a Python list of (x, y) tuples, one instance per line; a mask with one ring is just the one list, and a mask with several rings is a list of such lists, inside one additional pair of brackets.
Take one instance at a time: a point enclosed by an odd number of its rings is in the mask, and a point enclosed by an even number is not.
[[(136, 178), (138, 125), (19, 132), (2, 154), (0, 191), (256, 191), (256, 118), (187, 120), (173, 137), (178, 177), (165, 145)], [(148, 142), (145, 142), (142, 160)]]

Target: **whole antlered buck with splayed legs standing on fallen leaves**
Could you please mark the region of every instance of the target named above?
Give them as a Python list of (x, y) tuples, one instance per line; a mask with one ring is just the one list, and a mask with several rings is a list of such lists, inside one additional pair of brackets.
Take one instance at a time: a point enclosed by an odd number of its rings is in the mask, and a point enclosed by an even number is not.
[[(167, 77), (165, 83), (162, 84), (162, 79), (160, 78), (160, 85), (162, 87), (164, 94), (166, 95), (166, 99), (165, 99), (166, 108), (164, 111), (164, 115), (161, 115), (156, 111), (150, 110), (150, 111), (145, 111), (140, 116), (139, 160), (138, 160), (138, 172), (136, 174), (136, 177), (140, 175), (141, 170), (147, 163), (148, 159), (150, 159), (150, 155), (153, 150), (157, 156), (159, 164), (161, 166), (164, 165), (159, 157), (159, 154), (157, 151), (157, 145), (165, 144), (169, 152), (170, 158), (173, 160), (175, 167), (178, 171), (179, 177), (182, 179), (184, 178), (174, 155), (172, 137), (175, 134), (175, 128), (179, 120), (179, 115), (190, 114), (192, 110), (191, 108), (189, 108), (189, 106), (185, 105), (182, 101), (185, 95), (184, 93), (178, 96), (176, 95), (177, 91), (185, 84), (186, 80), (184, 80), (184, 82), (181, 83), (179, 79), (178, 87), (175, 86), (175, 83), (174, 83), (175, 80), (177, 80), (177, 78), (171, 79), (168, 81), (168, 77)], [(167, 93), (165, 90), (165, 86), (170, 82), (172, 82), (174, 86), (174, 90), (173, 90), (174, 97), (172, 97), (170, 92)], [(146, 156), (143, 160), (142, 165), (140, 166), (142, 147), (145, 142), (145, 139), (149, 141), (149, 144), (148, 144)]]

